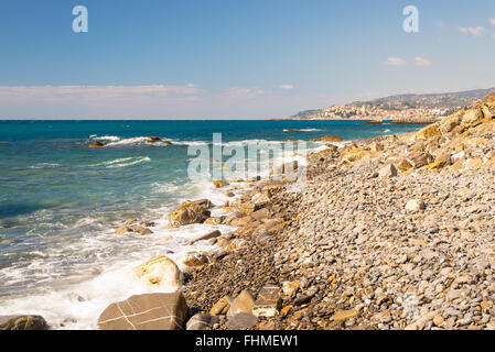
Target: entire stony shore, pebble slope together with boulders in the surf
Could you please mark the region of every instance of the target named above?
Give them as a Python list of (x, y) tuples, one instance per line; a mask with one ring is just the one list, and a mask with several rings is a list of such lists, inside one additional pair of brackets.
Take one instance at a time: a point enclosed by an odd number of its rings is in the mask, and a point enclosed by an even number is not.
[[(142, 286), (87, 328), (495, 329), (494, 117), (487, 99), (417, 132), (326, 143), (303, 184), (287, 165), (282, 179), (214, 180), (215, 205), (166, 215), (196, 229), (191, 250), (133, 258)], [(146, 241), (155, 226), (122, 219), (115, 235)], [(20, 314), (0, 326), (75, 323)]]

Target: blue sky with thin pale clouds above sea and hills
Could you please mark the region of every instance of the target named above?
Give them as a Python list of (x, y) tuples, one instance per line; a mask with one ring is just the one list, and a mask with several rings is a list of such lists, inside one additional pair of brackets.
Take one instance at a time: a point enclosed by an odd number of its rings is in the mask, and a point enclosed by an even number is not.
[(494, 57), (488, 0), (1, 1), (0, 119), (282, 118), (495, 87)]

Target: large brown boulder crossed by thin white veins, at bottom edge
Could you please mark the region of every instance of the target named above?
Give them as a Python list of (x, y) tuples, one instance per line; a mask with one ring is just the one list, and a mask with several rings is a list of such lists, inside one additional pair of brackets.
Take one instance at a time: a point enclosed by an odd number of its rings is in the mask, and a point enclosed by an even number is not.
[(101, 330), (181, 330), (189, 307), (182, 293), (134, 295), (109, 305), (98, 318)]

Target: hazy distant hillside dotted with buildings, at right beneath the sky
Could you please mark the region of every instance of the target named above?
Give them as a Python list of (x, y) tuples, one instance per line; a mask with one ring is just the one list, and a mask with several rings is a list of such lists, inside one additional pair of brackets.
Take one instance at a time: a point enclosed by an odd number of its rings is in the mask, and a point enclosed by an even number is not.
[(387, 110), (407, 108), (455, 108), (471, 106), (476, 100), (485, 98), (493, 90), (495, 90), (495, 88), (427, 95), (398, 95), (369, 101), (355, 101), (353, 105), (357, 107), (380, 107)]

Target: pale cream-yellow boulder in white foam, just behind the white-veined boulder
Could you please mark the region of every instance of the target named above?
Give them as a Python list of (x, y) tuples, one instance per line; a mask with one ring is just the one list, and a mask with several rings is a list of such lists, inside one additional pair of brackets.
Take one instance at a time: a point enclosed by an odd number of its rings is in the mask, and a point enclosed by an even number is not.
[(160, 255), (133, 268), (136, 275), (152, 285), (179, 289), (182, 287), (183, 274), (171, 258)]

